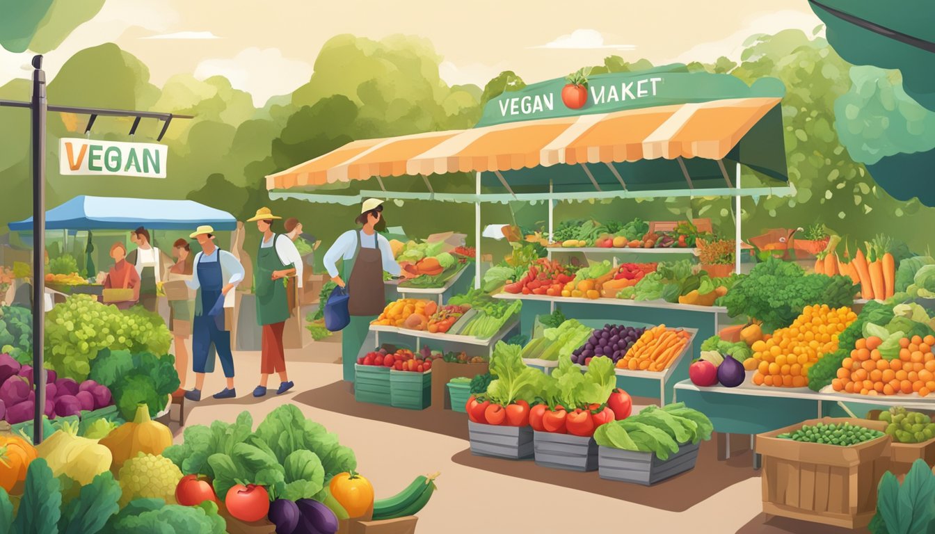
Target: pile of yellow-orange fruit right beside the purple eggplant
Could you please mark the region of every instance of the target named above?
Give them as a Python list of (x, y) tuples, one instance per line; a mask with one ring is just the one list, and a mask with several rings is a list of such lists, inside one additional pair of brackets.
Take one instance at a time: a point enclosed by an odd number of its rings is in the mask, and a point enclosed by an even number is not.
[(821, 356), (838, 350), (838, 335), (856, 318), (846, 306), (808, 306), (788, 328), (776, 330), (770, 339), (755, 341), (751, 346), (754, 355), (743, 362), (743, 368), (756, 371), (756, 385), (805, 387), (809, 368)]

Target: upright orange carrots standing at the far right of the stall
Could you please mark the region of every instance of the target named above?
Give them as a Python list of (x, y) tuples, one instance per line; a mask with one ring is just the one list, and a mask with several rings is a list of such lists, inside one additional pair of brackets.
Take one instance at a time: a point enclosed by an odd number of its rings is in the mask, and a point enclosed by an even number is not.
[[(857, 248), (854, 259), (845, 263), (834, 249), (841, 242), (838, 236), (828, 239), (827, 248), (818, 254), (815, 260), (815, 272), (828, 276), (848, 276), (855, 284), (860, 284), (860, 297), (868, 300), (885, 300), (893, 296), (896, 290), (896, 260), (890, 253), (892, 241), (885, 236), (877, 236), (872, 242), (865, 242), (867, 255)], [(849, 253), (845, 247), (844, 260)]]

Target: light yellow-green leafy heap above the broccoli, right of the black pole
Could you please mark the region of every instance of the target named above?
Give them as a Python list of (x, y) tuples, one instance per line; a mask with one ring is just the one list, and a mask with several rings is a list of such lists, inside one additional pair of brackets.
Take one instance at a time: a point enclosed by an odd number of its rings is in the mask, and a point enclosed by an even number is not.
[(68, 296), (46, 315), (46, 365), (78, 382), (91, 373), (91, 362), (102, 349), (165, 354), (170, 342), (157, 314), (141, 307), (117, 310), (94, 296)]

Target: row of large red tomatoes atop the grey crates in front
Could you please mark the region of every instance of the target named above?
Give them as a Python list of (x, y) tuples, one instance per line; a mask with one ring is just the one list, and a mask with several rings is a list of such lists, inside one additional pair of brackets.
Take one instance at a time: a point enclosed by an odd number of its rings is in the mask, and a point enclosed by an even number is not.
[(597, 426), (620, 421), (630, 416), (633, 400), (626, 391), (616, 388), (604, 404), (592, 404), (585, 408), (566, 410), (562, 406), (551, 408), (537, 404), (532, 408), (525, 400), (517, 400), (508, 406), (491, 404), (483, 397), (471, 396), (465, 406), (468, 418), (474, 423), (502, 426), (532, 426), (539, 432), (571, 434), (591, 437)]

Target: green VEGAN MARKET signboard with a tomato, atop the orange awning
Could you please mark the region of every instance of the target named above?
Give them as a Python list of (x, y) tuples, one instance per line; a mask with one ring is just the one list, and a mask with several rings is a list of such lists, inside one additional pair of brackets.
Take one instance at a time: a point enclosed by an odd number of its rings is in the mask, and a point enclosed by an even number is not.
[(748, 86), (729, 74), (688, 72), (684, 65), (667, 65), (591, 76), (583, 88), (564, 78), (527, 85), (490, 100), (477, 126), (784, 94), (778, 79), (757, 79)]

